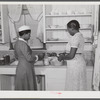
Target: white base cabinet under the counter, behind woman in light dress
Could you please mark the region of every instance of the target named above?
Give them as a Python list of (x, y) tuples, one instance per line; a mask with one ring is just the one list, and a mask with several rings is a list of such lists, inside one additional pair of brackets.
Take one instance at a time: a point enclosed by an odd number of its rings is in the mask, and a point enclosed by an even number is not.
[[(49, 66), (51, 67), (51, 66)], [(46, 70), (46, 91), (65, 91), (66, 86), (66, 66), (53, 66)], [(51, 74), (52, 73), (52, 74)], [(86, 69), (87, 91), (92, 91), (93, 66)]]

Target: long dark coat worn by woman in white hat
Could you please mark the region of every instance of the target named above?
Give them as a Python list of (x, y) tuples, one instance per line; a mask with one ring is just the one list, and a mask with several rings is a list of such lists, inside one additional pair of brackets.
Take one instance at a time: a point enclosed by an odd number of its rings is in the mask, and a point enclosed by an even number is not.
[(19, 63), (16, 69), (15, 90), (36, 90), (34, 71), (35, 56), (24, 41), (18, 40), (14, 45), (15, 56)]

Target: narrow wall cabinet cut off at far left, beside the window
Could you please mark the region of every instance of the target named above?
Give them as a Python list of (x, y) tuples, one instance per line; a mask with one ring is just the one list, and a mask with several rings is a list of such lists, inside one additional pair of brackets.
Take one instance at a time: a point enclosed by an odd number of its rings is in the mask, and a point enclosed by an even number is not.
[(9, 42), (9, 23), (7, 5), (0, 5), (0, 43)]

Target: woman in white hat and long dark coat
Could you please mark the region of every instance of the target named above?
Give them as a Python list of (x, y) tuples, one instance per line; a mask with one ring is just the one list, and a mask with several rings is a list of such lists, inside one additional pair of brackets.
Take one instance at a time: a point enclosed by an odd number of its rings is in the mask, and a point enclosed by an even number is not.
[(21, 26), (19, 28), (19, 39), (14, 45), (14, 53), (18, 59), (15, 90), (37, 90), (34, 63), (37, 60), (41, 60), (43, 55), (32, 55), (32, 50), (27, 44), (30, 34), (31, 29), (29, 26)]

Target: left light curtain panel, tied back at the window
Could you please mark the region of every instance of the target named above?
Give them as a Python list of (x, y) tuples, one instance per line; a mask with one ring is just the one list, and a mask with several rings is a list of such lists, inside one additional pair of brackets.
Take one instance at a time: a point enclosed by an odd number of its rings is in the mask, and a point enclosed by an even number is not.
[(22, 13), (22, 5), (8, 5), (9, 28), (11, 42), (15, 42), (17, 38), (17, 29), (15, 23), (19, 21)]

